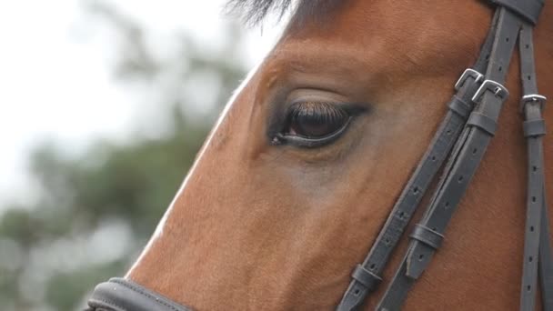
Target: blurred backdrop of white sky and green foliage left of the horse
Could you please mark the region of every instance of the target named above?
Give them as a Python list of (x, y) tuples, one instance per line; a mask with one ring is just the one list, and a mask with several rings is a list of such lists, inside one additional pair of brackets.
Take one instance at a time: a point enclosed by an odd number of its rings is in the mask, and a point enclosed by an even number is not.
[(1, 310), (78, 310), (146, 245), (281, 31), (224, 5), (0, 2)]

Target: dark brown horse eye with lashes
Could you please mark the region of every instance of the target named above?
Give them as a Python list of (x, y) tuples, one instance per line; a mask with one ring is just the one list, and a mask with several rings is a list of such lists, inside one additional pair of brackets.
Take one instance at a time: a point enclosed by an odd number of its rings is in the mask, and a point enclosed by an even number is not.
[(298, 103), (288, 110), (284, 135), (317, 139), (341, 130), (350, 115), (337, 105), (327, 103)]

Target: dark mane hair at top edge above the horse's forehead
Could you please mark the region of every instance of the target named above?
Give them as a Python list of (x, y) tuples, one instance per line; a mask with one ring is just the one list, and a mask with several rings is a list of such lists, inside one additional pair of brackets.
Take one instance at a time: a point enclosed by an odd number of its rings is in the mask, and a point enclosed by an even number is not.
[(280, 20), (288, 10), (293, 12), (291, 21), (321, 20), (328, 16), (344, 0), (229, 0), (226, 12), (237, 14), (249, 26), (259, 25), (272, 13)]

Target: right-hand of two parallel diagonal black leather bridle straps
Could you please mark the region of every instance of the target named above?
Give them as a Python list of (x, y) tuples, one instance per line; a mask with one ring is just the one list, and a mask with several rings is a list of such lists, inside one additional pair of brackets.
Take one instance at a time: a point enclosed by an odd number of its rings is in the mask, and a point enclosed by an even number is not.
[[(505, 81), (508, 65), (520, 29), (518, 15), (499, 7), (498, 29), (489, 58), (487, 80), (480, 86), (473, 100), (478, 103), (471, 115), (485, 115), (497, 122), (501, 106), (507, 99), (507, 90), (501, 84)], [(438, 185), (427, 212), (420, 223), (443, 235), (457, 205), (467, 190), (468, 183), (476, 173), (492, 135), (478, 125), (467, 125), (466, 135), (457, 141), (455, 152)], [(408, 290), (422, 275), (436, 249), (412, 239), (397, 273), (377, 306), (377, 310), (398, 310)]]

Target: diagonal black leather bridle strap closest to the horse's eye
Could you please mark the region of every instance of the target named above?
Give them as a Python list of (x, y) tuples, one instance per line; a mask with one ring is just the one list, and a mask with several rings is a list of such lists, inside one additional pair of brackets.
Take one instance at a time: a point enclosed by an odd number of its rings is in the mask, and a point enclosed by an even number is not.
[[(380, 283), (382, 279), (380, 274), (384, 270), (389, 257), (397, 246), (432, 179), (436, 176), (437, 171), (450, 153), (455, 141), (457, 141), (468, 115), (474, 107), (471, 98), (476, 94), (482, 83), (483, 75), (479, 72), (483, 72), (488, 65), (497, 21), (498, 15), (495, 15), (474, 69), (466, 70), (457, 80), (455, 85), (457, 94), (453, 95), (447, 103), (449, 111), (445, 119), (439, 125), (425, 155), (397, 199), (363, 264), (358, 265), (352, 273), (351, 283), (347, 286), (337, 310), (355, 310)], [(415, 236), (418, 235), (415, 234)], [(362, 274), (363, 279), (359, 277), (361, 275), (359, 270), (366, 272)], [(371, 280), (368, 281), (366, 278), (371, 278)]]

